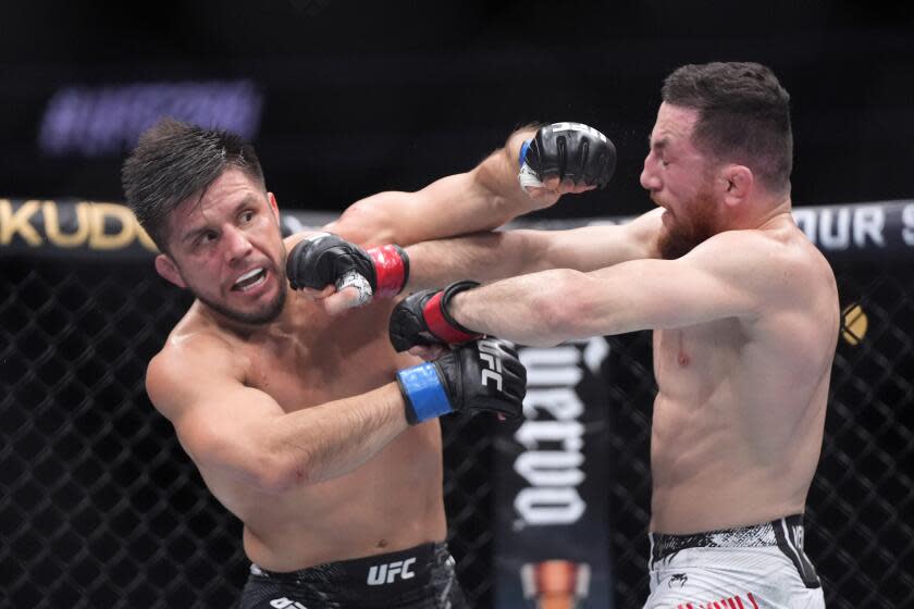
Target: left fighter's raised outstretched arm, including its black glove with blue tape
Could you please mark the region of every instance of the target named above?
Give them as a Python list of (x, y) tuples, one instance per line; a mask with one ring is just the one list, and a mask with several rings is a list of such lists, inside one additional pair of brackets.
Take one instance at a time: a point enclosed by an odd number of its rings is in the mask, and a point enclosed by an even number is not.
[(369, 247), (490, 231), (566, 192), (605, 186), (615, 167), (615, 146), (593, 127), (524, 127), (474, 170), (419, 192), (382, 192), (358, 201), (326, 231)]

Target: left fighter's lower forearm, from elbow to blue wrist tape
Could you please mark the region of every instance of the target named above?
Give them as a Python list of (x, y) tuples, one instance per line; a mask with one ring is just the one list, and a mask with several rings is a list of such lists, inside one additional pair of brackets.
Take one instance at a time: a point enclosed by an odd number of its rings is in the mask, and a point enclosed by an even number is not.
[(283, 486), (313, 484), (351, 472), (408, 424), (396, 383), (276, 418), (270, 447), (284, 464)]

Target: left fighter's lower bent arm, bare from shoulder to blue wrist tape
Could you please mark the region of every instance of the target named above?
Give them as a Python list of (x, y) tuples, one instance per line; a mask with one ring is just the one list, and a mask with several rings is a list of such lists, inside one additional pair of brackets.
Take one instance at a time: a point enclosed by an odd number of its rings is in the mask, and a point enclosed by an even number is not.
[(147, 389), (200, 467), (281, 493), (353, 471), (408, 426), (396, 383), (286, 413), (243, 384), (224, 348), (192, 340), (150, 362)]

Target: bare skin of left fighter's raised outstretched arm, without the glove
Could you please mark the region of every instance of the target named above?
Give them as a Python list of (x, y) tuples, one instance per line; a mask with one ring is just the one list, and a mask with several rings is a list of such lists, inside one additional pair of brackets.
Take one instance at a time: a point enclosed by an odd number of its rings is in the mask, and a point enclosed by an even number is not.
[(418, 192), (381, 192), (356, 201), (324, 229), (363, 247), (406, 246), (490, 231), (551, 204), (558, 195), (531, 198), (517, 179), (520, 146), (534, 134), (534, 128), (515, 132), (504, 148), (473, 170), (441, 178)]

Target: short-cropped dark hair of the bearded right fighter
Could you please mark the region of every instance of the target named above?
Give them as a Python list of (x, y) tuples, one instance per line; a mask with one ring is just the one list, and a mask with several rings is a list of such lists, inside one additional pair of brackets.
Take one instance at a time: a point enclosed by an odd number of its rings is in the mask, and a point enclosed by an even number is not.
[(699, 111), (695, 146), (721, 162), (748, 166), (773, 192), (790, 189), (793, 134), (790, 95), (758, 63), (683, 65), (666, 80), (663, 100)]

